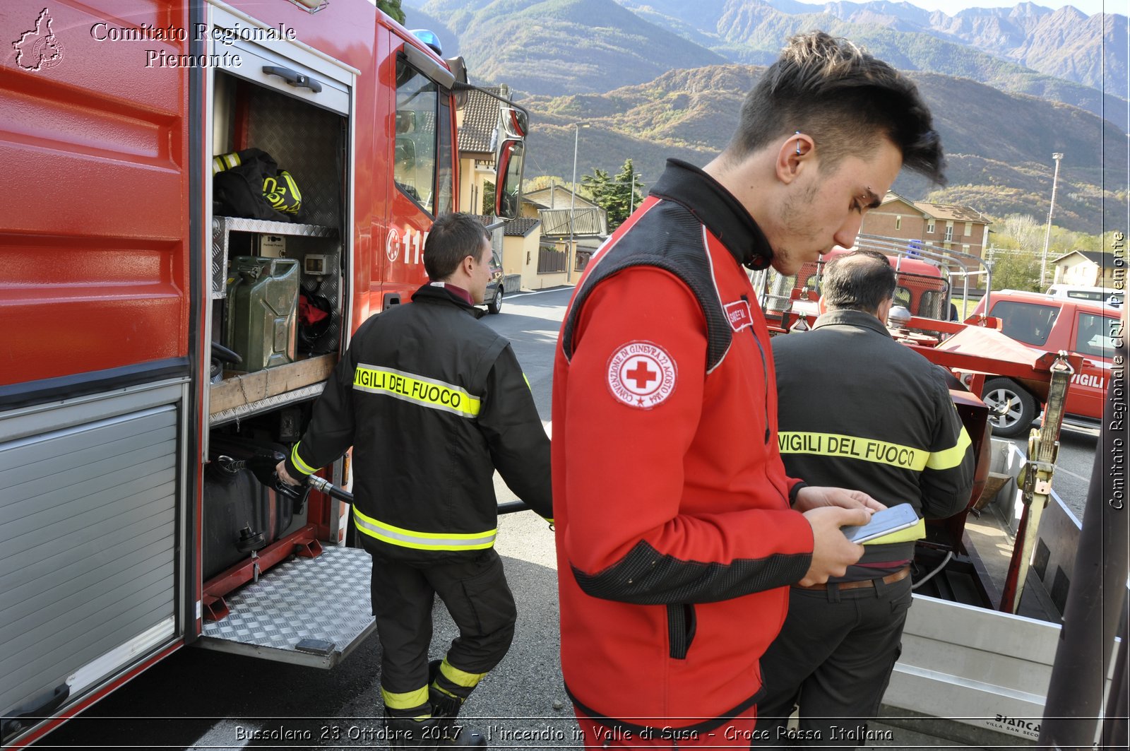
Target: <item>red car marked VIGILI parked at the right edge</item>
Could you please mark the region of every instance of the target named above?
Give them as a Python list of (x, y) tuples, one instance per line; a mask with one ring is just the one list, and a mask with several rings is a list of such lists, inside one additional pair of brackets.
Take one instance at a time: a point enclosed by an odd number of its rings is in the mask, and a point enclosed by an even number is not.
[[(990, 294), (989, 316), (1001, 321), (1002, 333), (1043, 352), (1068, 352), (1083, 356), (1083, 369), (1071, 376), (1067, 421), (1096, 426), (1102, 422), (1106, 385), (1114, 356), (1114, 338), (1121, 331), (1119, 308), (1102, 300), (1049, 296), (1035, 292), (1003, 290)], [(973, 314), (984, 314), (984, 299)], [(1040, 415), (1035, 395), (1009, 378), (985, 381), (982, 399), (990, 408), (993, 434), (1023, 435)]]

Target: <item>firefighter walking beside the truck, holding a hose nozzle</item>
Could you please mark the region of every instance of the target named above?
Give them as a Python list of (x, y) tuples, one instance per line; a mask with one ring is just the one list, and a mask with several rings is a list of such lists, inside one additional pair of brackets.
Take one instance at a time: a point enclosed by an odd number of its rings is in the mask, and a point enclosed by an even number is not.
[[(529, 385), (510, 343), (477, 320), (489, 261), (477, 218), (436, 219), (424, 249), (433, 282), (357, 329), (279, 465), (284, 480), (305, 478), (354, 447), (353, 515), (373, 556), (393, 746), (486, 744), (452, 720), (514, 636), (514, 599), (494, 550), (495, 468), (534, 511), (553, 516), (549, 440)], [(429, 665), (436, 594), (459, 637)]]

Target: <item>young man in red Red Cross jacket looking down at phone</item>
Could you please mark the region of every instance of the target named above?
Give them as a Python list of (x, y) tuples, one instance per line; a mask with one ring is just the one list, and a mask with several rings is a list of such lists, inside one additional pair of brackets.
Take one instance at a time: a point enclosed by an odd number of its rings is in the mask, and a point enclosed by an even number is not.
[(941, 161), (912, 83), (796, 37), (727, 149), (668, 162), (585, 270), (555, 362), (553, 475), (562, 667), (588, 748), (749, 746), (788, 585), (842, 575), (863, 549), (840, 527), (881, 506), (785, 474), (746, 269), (852, 245), (904, 164), (940, 180)]

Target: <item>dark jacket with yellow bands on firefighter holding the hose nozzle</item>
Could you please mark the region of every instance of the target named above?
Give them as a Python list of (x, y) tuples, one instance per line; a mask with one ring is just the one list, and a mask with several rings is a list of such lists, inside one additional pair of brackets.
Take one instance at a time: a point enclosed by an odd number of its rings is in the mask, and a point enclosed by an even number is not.
[(510, 343), (437, 285), (354, 335), (287, 460), (303, 477), (354, 447), (354, 521), (371, 552), (436, 562), (494, 545), (494, 471), (551, 517), (549, 439)]

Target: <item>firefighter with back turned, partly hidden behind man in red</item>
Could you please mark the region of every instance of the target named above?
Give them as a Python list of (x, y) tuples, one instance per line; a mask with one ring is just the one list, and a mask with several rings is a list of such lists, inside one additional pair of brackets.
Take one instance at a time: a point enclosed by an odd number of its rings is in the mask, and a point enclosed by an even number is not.
[[(827, 265), (827, 312), (810, 331), (773, 339), (777, 440), (791, 475), (945, 518), (968, 503), (973, 448), (946, 371), (895, 342), (884, 325), (895, 283), (887, 257), (876, 251)], [(786, 736), (798, 693), (800, 745), (852, 746), (866, 737), (898, 659), (922, 532), (920, 521), (880, 538), (885, 544), (866, 544), (863, 558), (827, 584), (792, 586), (789, 615), (762, 658), (763, 743)]]

